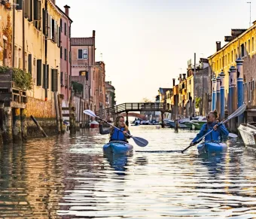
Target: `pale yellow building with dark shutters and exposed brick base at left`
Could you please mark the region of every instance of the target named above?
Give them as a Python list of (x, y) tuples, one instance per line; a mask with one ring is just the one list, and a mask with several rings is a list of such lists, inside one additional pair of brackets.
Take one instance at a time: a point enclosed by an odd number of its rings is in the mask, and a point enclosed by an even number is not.
[(35, 117), (55, 117), (53, 92), (60, 92), (61, 12), (50, 0), (18, 2), (14, 13), (13, 65), (32, 75), (26, 110)]

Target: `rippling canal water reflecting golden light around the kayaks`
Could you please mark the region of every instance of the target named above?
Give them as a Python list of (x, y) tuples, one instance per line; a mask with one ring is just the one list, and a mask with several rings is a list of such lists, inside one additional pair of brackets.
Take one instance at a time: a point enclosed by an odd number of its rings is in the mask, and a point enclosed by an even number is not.
[[(256, 156), (242, 143), (227, 153), (182, 150), (196, 132), (130, 126), (149, 144), (105, 157), (108, 135), (34, 139), (0, 150), (1, 218), (256, 218)], [(144, 151), (144, 152), (143, 152)]]

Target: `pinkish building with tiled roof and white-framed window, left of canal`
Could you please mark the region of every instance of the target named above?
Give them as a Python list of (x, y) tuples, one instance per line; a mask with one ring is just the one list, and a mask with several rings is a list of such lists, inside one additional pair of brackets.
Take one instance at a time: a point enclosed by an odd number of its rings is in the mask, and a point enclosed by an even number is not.
[[(96, 110), (95, 97), (95, 31), (90, 38), (71, 38), (72, 78), (85, 78), (84, 100), (87, 108)], [(83, 79), (78, 79), (84, 81)]]

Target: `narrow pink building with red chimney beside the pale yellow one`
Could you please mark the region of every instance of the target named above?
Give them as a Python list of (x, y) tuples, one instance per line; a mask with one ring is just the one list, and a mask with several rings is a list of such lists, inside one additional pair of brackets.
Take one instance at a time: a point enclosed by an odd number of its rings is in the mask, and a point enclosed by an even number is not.
[(72, 75), (71, 68), (71, 24), (69, 18), (69, 6), (65, 5), (65, 12), (60, 8), (62, 13), (60, 19), (60, 93), (63, 95), (62, 106), (69, 106), (69, 98), (71, 95), (71, 87), (69, 78)]

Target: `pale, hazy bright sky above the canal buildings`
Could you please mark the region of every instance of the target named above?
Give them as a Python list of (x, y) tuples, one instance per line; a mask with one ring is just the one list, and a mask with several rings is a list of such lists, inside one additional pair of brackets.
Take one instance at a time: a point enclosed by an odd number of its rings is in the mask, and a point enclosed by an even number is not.
[(231, 29), (256, 20), (256, 0), (56, 0), (69, 5), (72, 37), (96, 30), (96, 61), (105, 62), (117, 104), (152, 102), (159, 87), (186, 73), (187, 61), (215, 53)]

